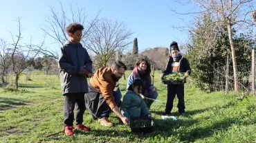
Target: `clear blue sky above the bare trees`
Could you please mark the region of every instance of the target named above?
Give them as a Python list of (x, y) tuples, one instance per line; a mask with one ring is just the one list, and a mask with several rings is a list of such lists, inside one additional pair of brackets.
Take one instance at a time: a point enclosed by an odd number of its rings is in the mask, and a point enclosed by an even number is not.
[[(184, 44), (188, 40), (188, 33), (177, 30), (174, 26), (185, 26), (192, 17), (185, 17), (174, 14), (171, 9), (178, 12), (187, 12), (193, 9), (192, 5), (181, 5), (172, 0), (76, 0), (62, 1), (63, 7), (68, 10), (68, 5), (78, 3), (85, 8), (89, 17), (95, 17), (100, 11), (99, 18), (106, 18), (127, 23), (127, 29), (134, 32), (131, 40), (138, 39), (139, 52), (147, 48), (158, 46), (169, 47), (172, 41)], [(33, 43), (42, 42), (44, 32), (40, 26), (46, 23), (46, 15), (50, 13), (49, 6), (54, 6), (60, 10), (57, 0), (9, 0), (1, 1), (0, 8), (0, 38), (10, 41), (10, 32), (17, 34), (17, 22), (15, 17), (21, 17), (21, 32), (23, 40)], [(185, 18), (185, 20), (184, 20)], [(46, 37), (46, 44), (50, 44), (52, 39)], [(56, 45), (55, 45), (56, 46)], [(129, 45), (132, 47), (132, 44)]]

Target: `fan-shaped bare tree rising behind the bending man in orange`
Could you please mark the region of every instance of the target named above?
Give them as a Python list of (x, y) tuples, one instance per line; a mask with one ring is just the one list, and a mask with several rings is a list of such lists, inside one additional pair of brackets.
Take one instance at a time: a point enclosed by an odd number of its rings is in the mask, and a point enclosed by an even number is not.
[(124, 22), (102, 19), (95, 23), (86, 38), (85, 47), (98, 56), (100, 65), (106, 67), (109, 58), (116, 51), (122, 52), (131, 44), (131, 35), (134, 32), (127, 30)]

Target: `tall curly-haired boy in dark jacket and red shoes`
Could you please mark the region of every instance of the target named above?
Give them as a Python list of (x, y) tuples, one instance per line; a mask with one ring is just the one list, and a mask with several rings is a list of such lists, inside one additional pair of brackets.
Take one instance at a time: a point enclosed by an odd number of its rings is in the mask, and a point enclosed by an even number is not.
[(83, 115), (85, 111), (84, 94), (88, 92), (86, 77), (92, 76), (92, 61), (85, 48), (82, 47), (82, 30), (84, 27), (78, 23), (71, 23), (66, 28), (69, 41), (61, 48), (59, 57), (60, 82), (65, 96), (64, 102), (64, 131), (66, 135), (73, 135), (73, 120), (75, 109), (75, 124), (77, 129), (89, 131), (84, 126)]

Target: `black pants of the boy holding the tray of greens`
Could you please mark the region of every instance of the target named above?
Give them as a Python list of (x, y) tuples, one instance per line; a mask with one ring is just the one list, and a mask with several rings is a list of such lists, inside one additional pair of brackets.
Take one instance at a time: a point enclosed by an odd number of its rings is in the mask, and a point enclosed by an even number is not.
[(182, 85), (167, 85), (167, 102), (165, 112), (171, 112), (174, 104), (174, 98), (178, 97), (178, 109), (179, 113), (185, 113), (185, 102), (184, 102), (184, 84)]

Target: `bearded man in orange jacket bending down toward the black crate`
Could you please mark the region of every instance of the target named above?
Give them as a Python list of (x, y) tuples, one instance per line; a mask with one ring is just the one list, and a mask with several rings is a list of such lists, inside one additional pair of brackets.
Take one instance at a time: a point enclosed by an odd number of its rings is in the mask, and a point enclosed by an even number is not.
[(128, 124), (126, 118), (118, 107), (120, 107), (121, 92), (118, 88), (118, 80), (125, 74), (127, 67), (121, 61), (117, 61), (111, 67), (97, 69), (88, 83), (89, 92), (85, 94), (85, 104), (93, 118), (100, 118), (102, 126), (112, 126), (109, 121), (111, 110), (118, 115), (124, 124)]

